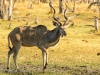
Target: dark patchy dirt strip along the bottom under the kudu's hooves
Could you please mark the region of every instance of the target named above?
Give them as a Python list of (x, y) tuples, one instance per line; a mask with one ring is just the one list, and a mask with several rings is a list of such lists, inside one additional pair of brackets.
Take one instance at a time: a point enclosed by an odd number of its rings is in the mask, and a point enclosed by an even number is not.
[(7, 72), (6, 65), (0, 63), (0, 72), (3, 74), (11, 75), (100, 75), (99, 69), (92, 69), (88, 66), (57, 66), (57, 65), (48, 65), (48, 68), (45, 71), (42, 71), (42, 66), (34, 66), (27, 63), (26, 65), (19, 65), (20, 71), (16, 71), (15, 68), (12, 68)]

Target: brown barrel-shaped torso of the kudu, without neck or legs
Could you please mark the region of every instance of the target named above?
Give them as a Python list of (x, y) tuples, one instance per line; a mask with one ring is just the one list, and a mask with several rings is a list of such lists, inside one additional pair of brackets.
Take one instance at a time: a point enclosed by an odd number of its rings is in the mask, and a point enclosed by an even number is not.
[(22, 26), (14, 28), (8, 38), (10, 38), (13, 46), (23, 45), (27, 47), (39, 46), (45, 41), (46, 26), (38, 25), (36, 27)]

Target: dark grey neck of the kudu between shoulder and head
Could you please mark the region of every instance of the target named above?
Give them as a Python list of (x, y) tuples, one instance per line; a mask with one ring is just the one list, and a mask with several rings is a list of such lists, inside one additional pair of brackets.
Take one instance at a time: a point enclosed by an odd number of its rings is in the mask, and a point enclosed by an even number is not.
[(50, 30), (46, 34), (46, 41), (47, 43), (57, 43), (60, 39), (60, 32), (59, 28), (55, 28), (53, 30)]

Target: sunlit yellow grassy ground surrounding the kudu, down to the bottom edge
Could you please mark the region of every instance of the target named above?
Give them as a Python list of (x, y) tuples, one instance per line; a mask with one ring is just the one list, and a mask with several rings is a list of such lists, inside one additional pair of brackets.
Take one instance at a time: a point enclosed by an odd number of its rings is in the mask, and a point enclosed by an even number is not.
[[(87, 10), (88, 4), (77, 3), (75, 13), (80, 14), (73, 21), (74, 26), (66, 29), (67, 36), (48, 49), (49, 65), (42, 72), (42, 54), (37, 47), (21, 47), (18, 55), (18, 65), (21, 72), (15, 72), (15, 66), (11, 58), (11, 71), (6, 73), (7, 63), (7, 36), (17, 26), (37, 26), (43, 24), (49, 30), (55, 28), (52, 24), (52, 14), (49, 13), (48, 3), (33, 4), (27, 9), (27, 2), (17, 3), (11, 21), (0, 19), (0, 74), (1, 75), (100, 75), (100, 31), (94, 28), (94, 16), (98, 16), (97, 6)], [(58, 14), (58, 2), (53, 2), (56, 16), (64, 20), (63, 15)], [(68, 3), (72, 8), (72, 3)], [(20, 7), (20, 8), (19, 8)], [(95, 11), (95, 12), (93, 12)], [(38, 17), (38, 24), (34, 23)], [(11, 27), (9, 28), (9, 24)]]

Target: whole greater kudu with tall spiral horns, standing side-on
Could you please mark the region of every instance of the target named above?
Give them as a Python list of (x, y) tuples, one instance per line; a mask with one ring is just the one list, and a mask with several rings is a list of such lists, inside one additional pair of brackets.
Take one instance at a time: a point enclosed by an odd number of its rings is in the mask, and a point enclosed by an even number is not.
[[(51, 3), (49, 3), (52, 7)], [(46, 69), (48, 64), (48, 51), (46, 50), (50, 46), (56, 45), (60, 36), (66, 36), (65, 25), (68, 24), (68, 18), (65, 16), (66, 10), (64, 12), (64, 17), (66, 19), (65, 23), (62, 24), (57, 18), (55, 18), (55, 9), (53, 14), (53, 25), (56, 26), (53, 30), (47, 30), (44, 25), (38, 25), (36, 27), (22, 26), (14, 28), (8, 35), (8, 62), (7, 69), (10, 68), (10, 56), (13, 55), (13, 60), (18, 70), (17, 66), (17, 55), (21, 46), (32, 47), (37, 46), (42, 51), (43, 57), (43, 70)], [(10, 47), (10, 41), (12, 43), (12, 48)]]

